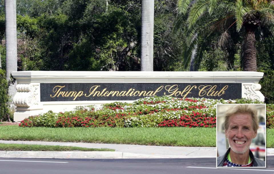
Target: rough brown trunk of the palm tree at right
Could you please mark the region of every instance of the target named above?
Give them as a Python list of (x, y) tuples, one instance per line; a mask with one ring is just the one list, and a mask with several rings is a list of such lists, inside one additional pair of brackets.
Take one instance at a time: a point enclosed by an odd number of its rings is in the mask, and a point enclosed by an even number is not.
[(257, 71), (255, 27), (245, 26), (245, 44), (243, 50), (243, 70)]

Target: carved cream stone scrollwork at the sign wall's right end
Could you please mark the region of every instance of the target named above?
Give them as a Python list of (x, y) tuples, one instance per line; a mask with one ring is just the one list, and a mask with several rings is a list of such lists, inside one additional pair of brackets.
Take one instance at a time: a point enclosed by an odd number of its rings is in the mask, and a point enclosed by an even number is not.
[(244, 84), (243, 86), (245, 88), (245, 92), (244, 92), (245, 98), (259, 100), (259, 101), (265, 100), (265, 97), (259, 91), (261, 89), (260, 84)]

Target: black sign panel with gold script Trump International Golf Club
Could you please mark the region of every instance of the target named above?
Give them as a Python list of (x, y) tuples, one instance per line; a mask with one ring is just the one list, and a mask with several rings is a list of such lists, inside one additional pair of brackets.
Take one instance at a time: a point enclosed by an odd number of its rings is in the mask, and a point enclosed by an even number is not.
[(241, 98), (240, 83), (41, 83), (41, 102), (136, 100), (151, 96)]

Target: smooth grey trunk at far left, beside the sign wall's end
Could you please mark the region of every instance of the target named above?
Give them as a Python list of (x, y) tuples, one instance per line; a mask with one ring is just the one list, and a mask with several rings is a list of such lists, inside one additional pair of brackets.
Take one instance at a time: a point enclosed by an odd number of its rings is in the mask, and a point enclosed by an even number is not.
[[(17, 71), (17, 31), (16, 31), (16, 0), (5, 0), (6, 20), (6, 79), (9, 81), (11, 72)], [(16, 93), (16, 83), (10, 84), (11, 99)], [(11, 108), (12, 109), (12, 108)]]

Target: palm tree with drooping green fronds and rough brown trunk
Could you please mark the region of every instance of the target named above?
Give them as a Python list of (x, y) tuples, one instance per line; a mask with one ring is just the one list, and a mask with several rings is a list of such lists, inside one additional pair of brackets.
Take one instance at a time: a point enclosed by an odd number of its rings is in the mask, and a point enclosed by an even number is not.
[[(197, 59), (201, 56), (202, 42), (215, 31), (220, 32), (220, 45), (229, 44), (234, 29), (244, 35), (243, 70), (257, 71), (255, 31), (263, 28), (274, 34), (274, 1), (178, 0), (177, 7), (179, 14), (188, 14), (186, 52), (192, 53), (197, 46), (194, 56)], [(189, 66), (189, 59), (190, 56), (185, 56), (185, 67)]]

